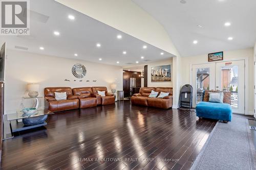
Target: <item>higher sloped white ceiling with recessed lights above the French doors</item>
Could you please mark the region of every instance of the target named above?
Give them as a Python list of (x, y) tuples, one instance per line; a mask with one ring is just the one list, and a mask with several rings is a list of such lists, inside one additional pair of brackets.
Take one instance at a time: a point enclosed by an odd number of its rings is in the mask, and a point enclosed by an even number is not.
[(163, 25), (182, 57), (253, 47), (256, 41), (255, 0), (132, 1)]

